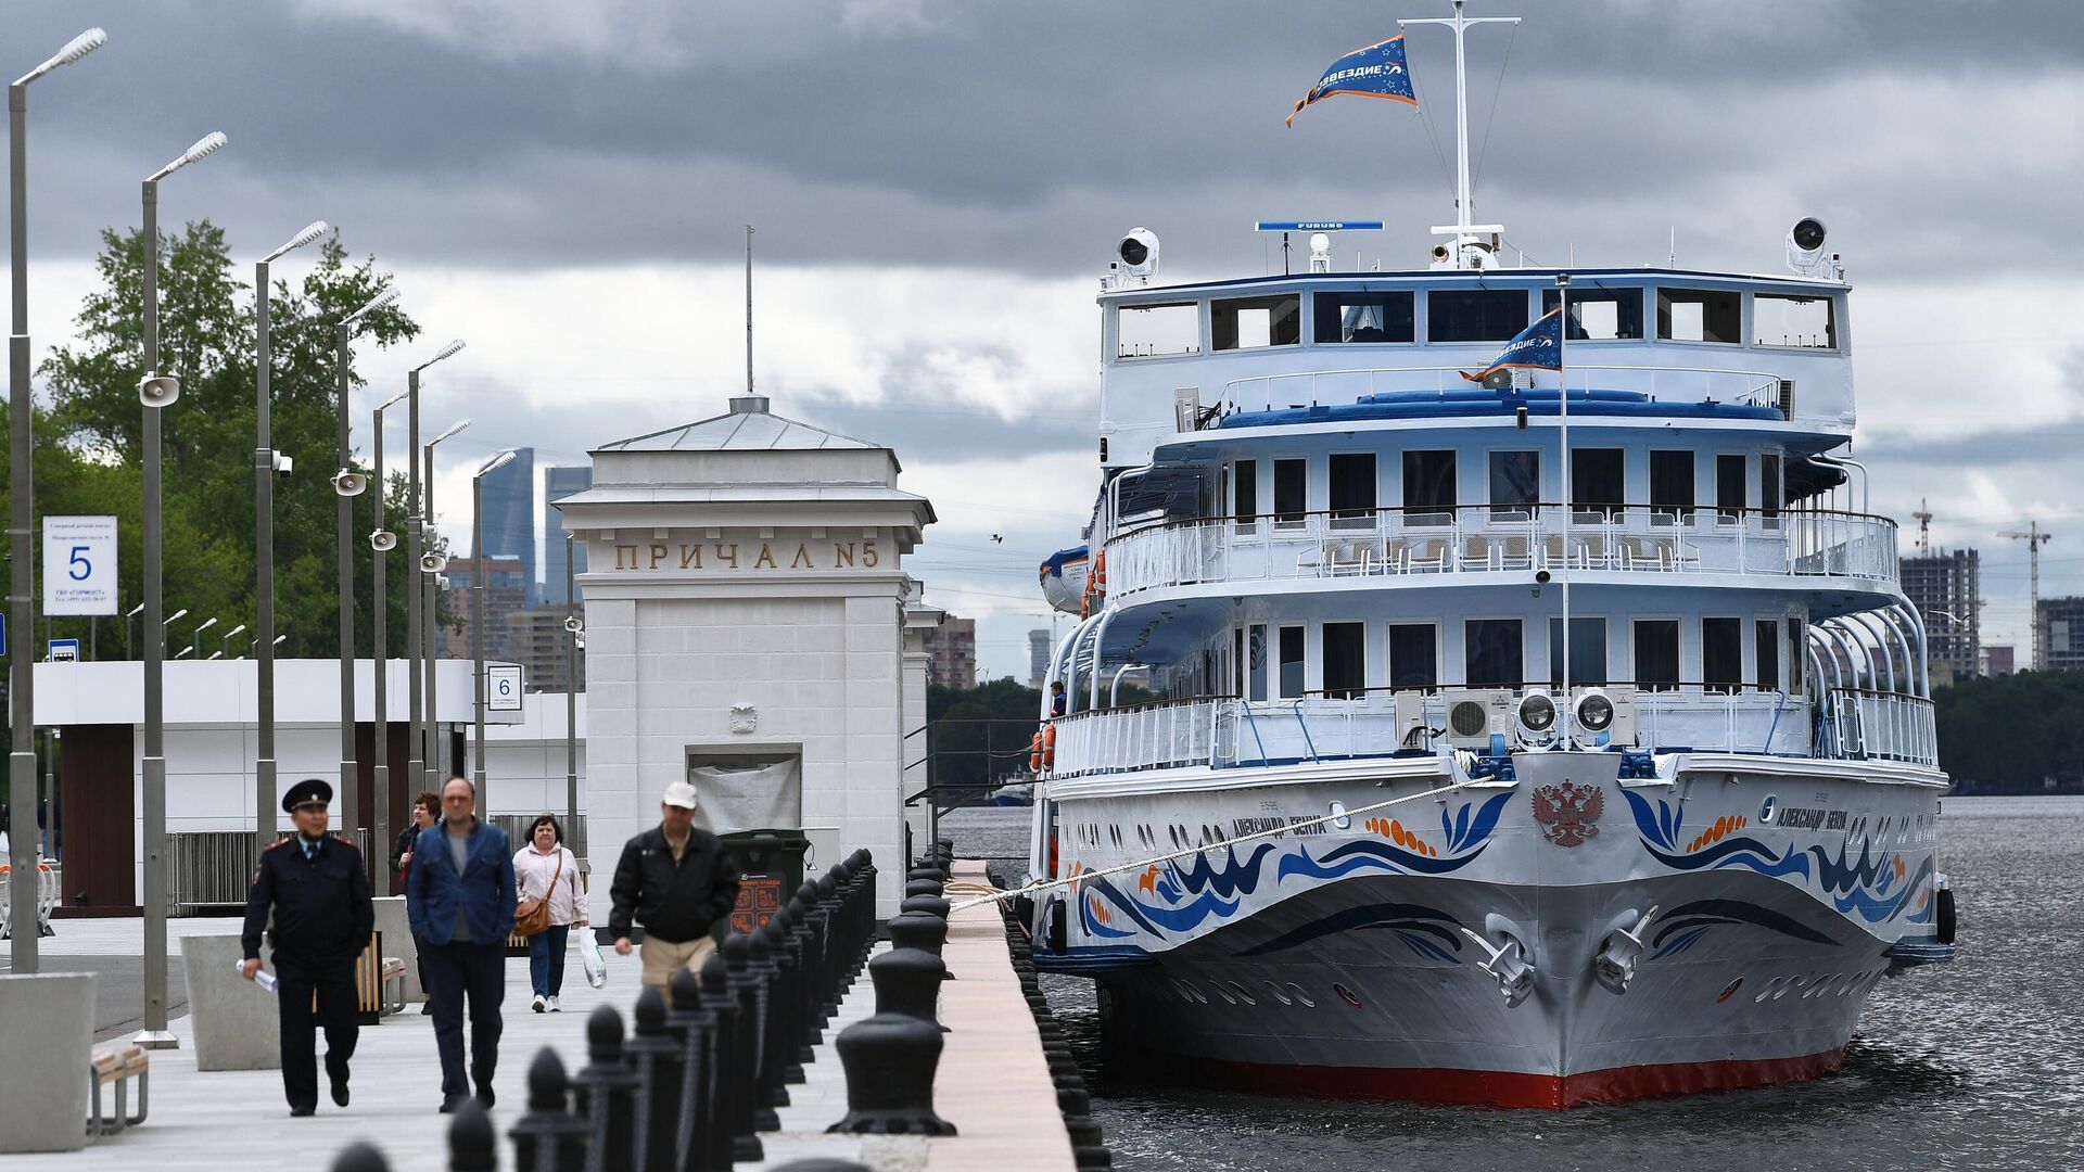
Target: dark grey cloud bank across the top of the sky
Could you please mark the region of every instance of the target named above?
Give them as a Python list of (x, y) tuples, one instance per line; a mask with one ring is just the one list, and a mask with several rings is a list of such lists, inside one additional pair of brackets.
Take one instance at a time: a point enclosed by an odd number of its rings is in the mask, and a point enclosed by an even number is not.
[[(1234, 269), (1259, 263), (1263, 244), (1244, 231), (1259, 215), (1450, 215), (1419, 117), (1348, 100), (1280, 125), (1325, 60), (1394, 15), (1442, 8), (1421, 0), (1277, 15), (971, 2), (921, 4), (919, 19), (886, 4), (894, 15), (869, 6), (859, 21), (842, 2), (725, 17), (602, 4), (600, 21), (646, 13), (629, 52), (556, 40), (588, 21), (586, 4), (536, 40), (515, 27), (527, 6), (358, 15), (375, 8), (15, 8), (0, 44), (21, 69), (40, 56), (23, 46), (54, 48), (85, 21), (110, 31), (31, 98), (40, 254), (85, 254), (96, 227), (135, 223), (135, 177), (215, 127), (231, 150), (169, 186), (167, 219), (210, 215), (265, 248), (327, 215), (358, 250), (492, 267), (727, 259), (736, 225), (754, 219), (782, 263), (1088, 271), (1115, 231), (1152, 221), (1184, 265)], [(1980, 252), (1955, 225), (1990, 211), (1990, 175), (1951, 169), (1951, 140), (1905, 161), (1913, 179), (1834, 167), (1838, 148), (1857, 156), (1915, 129), (1859, 83), (1986, 77), (1994, 90), (2074, 77), (2084, 56), (2084, 4), (2061, 0), (1482, 8), (1528, 23), (1473, 33), (1480, 211), (1507, 217), (1536, 257), (1576, 244), (1584, 259), (1648, 259), (1678, 225), (1694, 263), (1759, 267), (1778, 259), (1788, 211), (1813, 204), (1849, 242), (1871, 238), (1869, 273), (1967, 265)], [(450, 10), (463, 15), (429, 17)], [(1415, 31), (1411, 52), (1450, 150), (1446, 35)], [(2049, 136), (2074, 148), (2076, 113), (1988, 133), (2015, 138), (2021, 156)], [(1761, 184), (1767, 198), (1744, 198)], [(2007, 211), (2049, 219), (2071, 198), (2067, 184), (2017, 184)], [(1384, 244), (1392, 265), (1425, 244), (1403, 236)]]

